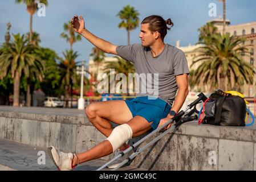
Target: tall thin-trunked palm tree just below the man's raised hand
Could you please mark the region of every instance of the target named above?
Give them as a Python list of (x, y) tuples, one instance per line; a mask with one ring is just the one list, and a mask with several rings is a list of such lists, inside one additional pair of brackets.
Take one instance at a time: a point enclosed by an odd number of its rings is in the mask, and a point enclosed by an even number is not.
[(75, 34), (74, 28), (72, 27), (72, 24), (70, 22), (64, 23), (63, 27), (64, 31), (66, 31), (67, 34), (65, 32), (62, 32), (60, 36), (66, 39), (68, 43), (70, 43), (70, 49), (72, 50), (73, 44), (81, 40), (81, 35)]

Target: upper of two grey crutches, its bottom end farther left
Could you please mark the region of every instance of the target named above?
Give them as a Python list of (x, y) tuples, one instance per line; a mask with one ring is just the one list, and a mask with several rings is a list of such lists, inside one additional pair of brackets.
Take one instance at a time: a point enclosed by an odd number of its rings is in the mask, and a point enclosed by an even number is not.
[[(148, 134), (148, 135), (145, 136), (144, 138), (140, 139), (138, 142), (136, 142), (135, 144), (133, 144), (132, 146), (130, 146), (129, 148), (127, 148), (125, 151), (121, 152), (119, 155), (117, 155), (117, 156), (115, 156), (113, 159), (109, 160), (109, 162), (105, 163), (103, 166), (101, 166), (100, 168), (96, 169), (96, 171), (100, 171), (101, 169), (104, 169), (104, 168), (107, 167), (109, 164), (111, 164), (111, 163), (114, 162), (115, 160), (119, 159), (121, 156), (127, 154), (129, 151), (131, 151), (131, 150), (133, 150), (134, 148), (136, 148), (137, 146), (139, 146), (141, 143), (143, 143), (145, 140), (147, 140), (147, 139), (148, 139), (149, 137), (151, 137), (153, 134), (155, 134), (155, 133), (161, 131), (162, 129), (164, 129), (164, 127), (167, 126), (167, 125), (169, 125), (171, 122), (173, 122), (173, 121), (182, 121), (182, 120), (181, 120), (182, 115), (184, 115), (186, 111), (188, 111), (189, 109), (191, 109), (192, 107), (194, 107), (193, 110), (191, 110), (188, 114), (186, 114), (186, 115), (189, 115), (189, 116), (192, 115), (195, 111), (197, 111), (196, 105), (197, 105), (199, 102), (201, 102), (201, 101), (204, 102), (206, 99), (207, 99), (207, 97), (206, 97), (203, 93), (198, 94), (197, 100), (194, 101), (194, 102), (192, 102), (191, 104), (189, 104), (189, 105), (186, 107), (185, 111), (184, 111), (184, 110), (181, 110), (180, 112), (178, 112), (178, 114), (177, 114), (176, 116), (174, 116), (172, 119), (170, 119), (169, 121), (167, 121), (166, 123), (164, 123), (164, 125), (162, 125), (162, 126), (159, 127), (158, 129), (152, 131), (150, 134)], [(198, 111), (197, 111), (197, 113), (198, 113)], [(193, 118), (193, 120), (194, 120), (194, 118)], [(178, 122), (177, 122), (177, 123), (178, 123)], [(182, 124), (182, 122), (180, 123), (180, 125), (181, 125), (181, 124)], [(178, 125), (177, 125), (177, 126), (178, 126)], [(174, 127), (174, 125), (173, 125), (172, 127), (170, 127), (170, 129), (172, 129), (172, 130), (175, 129), (175, 128), (176, 128), (176, 127)], [(168, 129), (168, 130), (166, 130), (166, 131), (168, 131), (168, 133), (169, 133), (170, 129)], [(165, 132), (166, 132), (166, 131), (165, 131)], [(164, 132), (164, 133), (165, 133), (165, 132)], [(162, 134), (164, 134), (164, 133), (162, 133)], [(166, 134), (166, 133), (165, 133), (165, 134)], [(159, 136), (160, 136), (160, 135), (159, 135)], [(124, 164), (125, 164), (125, 163), (124, 163)], [(123, 166), (123, 165), (122, 165), (122, 166)], [(120, 167), (121, 167), (121, 166), (120, 166)], [(119, 168), (120, 168), (120, 167), (119, 167)]]

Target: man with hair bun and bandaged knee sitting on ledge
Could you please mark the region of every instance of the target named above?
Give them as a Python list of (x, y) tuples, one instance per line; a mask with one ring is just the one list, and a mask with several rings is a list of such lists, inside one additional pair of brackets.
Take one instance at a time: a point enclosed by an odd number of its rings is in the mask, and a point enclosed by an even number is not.
[[(141, 44), (129, 46), (115, 46), (93, 35), (85, 28), (82, 16), (75, 16), (72, 24), (76, 32), (97, 48), (135, 64), (138, 74), (157, 73), (158, 95), (148, 90), (142, 93), (140, 86), (138, 97), (131, 101), (104, 101), (88, 105), (88, 120), (108, 138), (80, 154), (58, 153), (53, 146), (49, 147), (49, 154), (59, 170), (71, 170), (88, 160), (101, 158), (118, 149), (125, 150), (128, 148), (125, 142), (129, 139), (155, 130), (171, 119), (181, 109), (188, 95), (189, 68), (186, 57), (180, 49), (164, 43), (167, 30), (170, 30), (168, 26), (173, 26), (170, 19), (164, 20), (158, 15), (148, 16), (141, 22)], [(145, 85), (145, 80), (142, 80), (141, 85)], [(154, 86), (151, 88), (155, 89)], [(109, 121), (119, 126), (112, 129)]]

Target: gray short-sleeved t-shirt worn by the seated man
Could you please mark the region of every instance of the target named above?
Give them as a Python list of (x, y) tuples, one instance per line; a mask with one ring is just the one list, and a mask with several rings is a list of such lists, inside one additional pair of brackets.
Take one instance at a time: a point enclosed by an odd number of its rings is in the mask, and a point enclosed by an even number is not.
[(164, 50), (156, 57), (152, 56), (150, 47), (141, 44), (117, 46), (116, 52), (135, 64), (137, 80), (140, 78), (137, 96), (156, 96), (169, 105), (173, 104), (178, 89), (175, 76), (189, 74), (184, 52), (169, 44), (165, 44)]

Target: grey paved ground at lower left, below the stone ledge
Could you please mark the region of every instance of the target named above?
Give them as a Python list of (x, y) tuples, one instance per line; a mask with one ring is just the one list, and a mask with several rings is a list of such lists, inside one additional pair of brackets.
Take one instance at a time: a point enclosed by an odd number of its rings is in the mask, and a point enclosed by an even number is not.
[[(46, 154), (46, 164), (38, 164), (38, 152), (44, 151)], [(92, 171), (96, 170), (103, 164), (105, 160), (96, 159), (80, 164), (75, 171)], [(52, 163), (48, 155), (47, 148), (34, 147), (26, 144), (13, 142), (7, 139), (0, 139), (0, 171), (18, 170), (18, 171), (56, 171), (56, 167)], [(108, 170), (108, 169), (105, 169)], [(136, 167), (123, 167), (120, 170), (133, 171), (145, 170)]]

